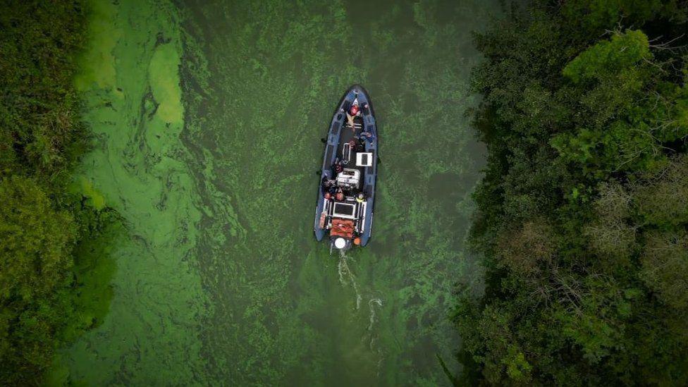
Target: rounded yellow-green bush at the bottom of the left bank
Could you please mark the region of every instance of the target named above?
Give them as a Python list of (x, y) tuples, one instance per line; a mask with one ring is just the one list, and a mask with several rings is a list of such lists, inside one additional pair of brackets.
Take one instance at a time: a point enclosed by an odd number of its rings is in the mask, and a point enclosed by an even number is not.
[(49, 364), (66, 324), (75, 225), (30, 178), (0, 181), (0, 373), (27, 382)]

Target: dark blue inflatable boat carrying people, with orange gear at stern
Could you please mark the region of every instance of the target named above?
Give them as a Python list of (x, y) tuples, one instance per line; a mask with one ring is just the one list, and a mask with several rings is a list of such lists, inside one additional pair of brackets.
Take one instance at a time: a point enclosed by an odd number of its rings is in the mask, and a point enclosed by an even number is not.
[(360, 85), (345, 92), (332, 117), (320, 171), (314, 231), (345, 252), (370, 241), (378, 164), (373, 106)]

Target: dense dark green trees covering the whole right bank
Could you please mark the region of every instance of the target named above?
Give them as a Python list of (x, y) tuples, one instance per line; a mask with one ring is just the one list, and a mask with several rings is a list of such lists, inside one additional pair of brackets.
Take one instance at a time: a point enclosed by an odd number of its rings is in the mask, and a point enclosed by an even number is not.
[(533, 1), (475, 42), (469, 383), (688, 383), (688, 4)]

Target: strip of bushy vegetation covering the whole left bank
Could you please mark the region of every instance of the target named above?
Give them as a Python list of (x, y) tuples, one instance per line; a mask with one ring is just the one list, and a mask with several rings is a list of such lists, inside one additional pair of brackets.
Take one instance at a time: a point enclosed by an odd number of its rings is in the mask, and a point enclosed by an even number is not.
[(73, 86), (87, 9), (0, 5), (0, 380), (35, 385), (56, 350), (102, 322), (121, 223), (73, 180), (90, 141)]

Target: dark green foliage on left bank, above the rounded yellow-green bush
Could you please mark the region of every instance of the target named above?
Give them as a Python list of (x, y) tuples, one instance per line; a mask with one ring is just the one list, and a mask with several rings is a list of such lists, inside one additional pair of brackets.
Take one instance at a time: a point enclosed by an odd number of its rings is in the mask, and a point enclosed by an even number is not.
[(71, 87), (84, 12), (76, 1), (1, 6), (0, 171), (59, 172), (86, 140)]

